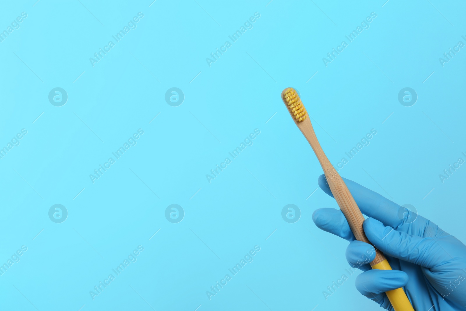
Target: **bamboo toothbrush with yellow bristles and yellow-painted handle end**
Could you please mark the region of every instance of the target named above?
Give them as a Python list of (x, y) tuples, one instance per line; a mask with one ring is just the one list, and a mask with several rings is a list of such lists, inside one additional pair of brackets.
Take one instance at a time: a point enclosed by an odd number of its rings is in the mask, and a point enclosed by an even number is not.
[[(315, 137), (314, 129), (312, 128), (306, 109), (301, 102), (301, 98), (293, 88), (286, 88), (283, 90), (283, 92), (281, 92), (281, 98), (283, 103), (287, 106), (289, 113), (293, 119), (295, 119), (296, 125), (308, 140), (312, 150), (314, 150), (315, 155), (322, 166), (323, 172), (325, 173), (330, 190), (332, 191), (338, 206), (345, 215), (356, 240), (372, 245), (363, 231), (363, 214), (361, 214), (356, 201), (353, 199), (353, 196), (349, 192), (348, 187), (346, 187), (346, 184), (343, 182), (343, 179), (336, 172), (336, 169), (331, 165), (329, 159), (327, 159), (327, 156), (323, 152), (319, 141)], [(376, 258), (370, 263), (370, 266), (372, 269), (391, 270), (390, 264), (384, 254), (378, 249), (376, 250)], [(402, 288), (389, 290), (386, 294), (395, 311), (414, 311)]]

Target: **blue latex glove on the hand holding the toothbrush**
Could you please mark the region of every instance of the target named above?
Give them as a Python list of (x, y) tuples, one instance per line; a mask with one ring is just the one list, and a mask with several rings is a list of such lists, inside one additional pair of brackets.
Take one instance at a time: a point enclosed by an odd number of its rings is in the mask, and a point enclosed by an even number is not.
[[(363, 223), (367, 238), (393, 269), (371, 269), (374, 248), (356, 241), (341, 210), (316, 210), (312, 219), (317, 227), (350, 242), (346, 259), (364, 271), (356, 278), (357, 290), (386, 310), (393, 307), (384, 292), (399, 287), (416, 311), (466, 310), (466, 246), (432, 221), (354, 181), (343, 180), (361, 212), (369, 217)], [(319, 177), (319, 187), (333, 197), (325, 175)]]

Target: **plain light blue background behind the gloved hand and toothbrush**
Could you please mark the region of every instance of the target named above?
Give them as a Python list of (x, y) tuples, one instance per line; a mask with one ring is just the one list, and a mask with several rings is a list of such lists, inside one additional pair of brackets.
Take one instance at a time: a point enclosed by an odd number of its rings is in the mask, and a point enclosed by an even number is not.
[[(466, 50), (439, 62), (466, 43), (464, 2), (151, 2), (1, 4), (0, 29), (27, 13), (0, 42), (1, 147), (27, 130), (0, 159), (0, 262), (27, 246), (0, 276), (2, 310), (377, 309), (356, 275), (322, 294), (349, 267), (347, 242), (312, 221), (315, 209), (337, 206), (315, 191), (322, 169), (280, 99), (289, 86), (332, 163), (377, 130), (343, 177), (466, 241), (466, 167), (439, 179), (466, 159)], [(138, 12), (137, 28), (93, 67), (89, 58)], [(209, 67), (206, 57), (254, 12), (254, 28)], [(322, 57), (371, 12), (370, 28), (326, 67)], [(48, 101), (55, 87), (68, 93), (62, 107)], [(178, 107), (164, 100), (171, 87), (185, 94)], [(397, 100), (404, 87), (418, 94), (411, 107)], [(137, 129), (137, 145), (92, 183)], [(254, 145), (209, 184), (206, 174), (254, 129)], [(54, 204), (66, 221), (48, 218)], [(167, 221), (170, 204), (183, 221)], [(296, 223), (281, 218), (287, 204), (301, 209)], [(93, 300), (89, 291), (138, 245), (137, 262)], [(209, 300), (206, 290), (254, 245), (254, 261)]]

